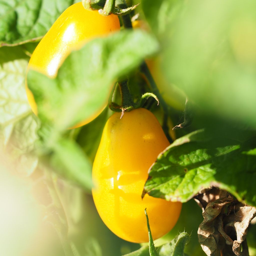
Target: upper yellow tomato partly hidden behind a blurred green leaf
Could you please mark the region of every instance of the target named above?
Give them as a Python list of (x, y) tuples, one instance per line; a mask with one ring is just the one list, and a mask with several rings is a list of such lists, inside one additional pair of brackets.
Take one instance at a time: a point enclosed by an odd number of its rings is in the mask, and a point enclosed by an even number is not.
[[(88, 40), (108, 35), (116, 30), (120, 30), (119, 19), (116, 15), (104, 17), (98, 11), (84, 9), (81, 2), (73, 4), (59, 16), (39, 42), (30, 58), (28, 68), (54, 78), (72, 50), (80, 49)], [(34, 96), (27, 85), (26, 92), (31, 109), (37, 114)], [(106, 102), (102, 103), (102, 108), (91, 119), (84, 120), (76, 127), (93, 120), (100, 114), (105, 105)]]

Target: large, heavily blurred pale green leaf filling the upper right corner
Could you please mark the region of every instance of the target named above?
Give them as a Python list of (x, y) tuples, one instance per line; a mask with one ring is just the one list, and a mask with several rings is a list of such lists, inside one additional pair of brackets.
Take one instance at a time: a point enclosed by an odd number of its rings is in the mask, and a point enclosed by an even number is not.
[[(162, 33), (162, 71), (168, 81), (205, 114), (254, 128), (255, 8), (250, 0), (186, 1)], [(160, 11), (154, 17), (161, 17)]]

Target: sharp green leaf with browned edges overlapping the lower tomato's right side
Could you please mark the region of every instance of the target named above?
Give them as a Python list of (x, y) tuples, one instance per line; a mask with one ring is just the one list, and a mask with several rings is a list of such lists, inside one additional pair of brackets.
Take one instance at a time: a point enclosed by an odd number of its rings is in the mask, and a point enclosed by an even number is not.
[(174, 141), (151, 167), (145, 192), (186, 202), (201, 189), (217, 186), (239, 201), (256, 205), (256, 140), (213, 137), (203, 130)]

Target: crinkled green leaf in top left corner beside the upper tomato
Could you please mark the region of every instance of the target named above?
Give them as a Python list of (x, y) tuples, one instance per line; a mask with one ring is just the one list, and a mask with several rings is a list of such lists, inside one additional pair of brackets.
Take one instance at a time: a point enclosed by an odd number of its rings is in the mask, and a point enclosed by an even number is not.
[(73, 0), (0, 0), (0, 47), (42, 38)]

